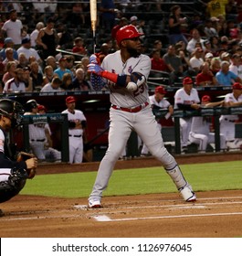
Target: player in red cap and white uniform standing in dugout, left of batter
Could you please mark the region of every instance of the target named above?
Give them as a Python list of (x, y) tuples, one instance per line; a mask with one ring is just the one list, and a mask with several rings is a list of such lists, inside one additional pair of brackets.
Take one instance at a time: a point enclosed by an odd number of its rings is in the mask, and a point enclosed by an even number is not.
[(68, 114), (68, 146), (69, 163), (82, 163), (83, 159), (83, 129), (87, 119), (83, 112), (76, 110), (76, 98), (68, 96), (66, 99), (68, 109), (62, 113)]

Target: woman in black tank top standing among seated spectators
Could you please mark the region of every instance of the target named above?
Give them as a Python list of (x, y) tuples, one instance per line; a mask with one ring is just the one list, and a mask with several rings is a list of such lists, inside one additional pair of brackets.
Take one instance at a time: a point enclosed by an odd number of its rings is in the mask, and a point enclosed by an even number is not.
[(55, 20), (48, 18), (47, 26), (40, 29), (37, 34), (37, 46), (41, 47), (41, 59), (45, 60), (48, 56), (56, 56), (58, 47), (58, 34), (55, 27)]

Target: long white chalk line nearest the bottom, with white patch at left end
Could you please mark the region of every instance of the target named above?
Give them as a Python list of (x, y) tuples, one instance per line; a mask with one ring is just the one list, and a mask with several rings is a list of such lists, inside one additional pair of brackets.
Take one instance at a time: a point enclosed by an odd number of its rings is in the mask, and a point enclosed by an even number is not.
[(142, 220), (142, 219), (180, 219), (180, 218), (193, 218), (193, 217), (212, 217), (212, 216), (231, 216), (242, 215), (242, 212), (225, 212), (225, 213), (208, 213), (208, 214), (188, 214), (188, 215), (174, 215), (174, 216), (153, 216), (153, 217), (137, 217), (137, 218), (123, 218), (123, 219), (110, 219), (107, 215), (98, 215), (93, 217), (100, 222), (114, 222), (114, 221), (129, 221), (129, 220)]

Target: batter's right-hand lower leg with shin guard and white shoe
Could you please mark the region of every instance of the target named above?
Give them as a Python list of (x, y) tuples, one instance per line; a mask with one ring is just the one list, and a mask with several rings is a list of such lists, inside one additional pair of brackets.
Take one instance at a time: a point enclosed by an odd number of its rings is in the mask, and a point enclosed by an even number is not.
[(175, 186), (178, 191), (181, 193), (182, 197), (186, 202), (194, 202), (196, 200), (195, 192), (193, 188), (188, 184), (188, 182), (184, 179), (184, 176), (178, 165), (174, 167), (174, 169), (167, 170), (169, 176), (174, 181)]

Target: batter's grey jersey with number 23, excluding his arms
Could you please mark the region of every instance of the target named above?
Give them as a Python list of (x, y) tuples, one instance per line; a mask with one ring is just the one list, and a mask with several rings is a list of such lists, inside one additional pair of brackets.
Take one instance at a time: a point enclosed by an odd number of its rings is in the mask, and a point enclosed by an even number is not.
[[(103, 59), (102, 69), (116, 73), (118, 75), (131, 75), (133, 72), (141, 73), (148, 78), (151, 69), (151, 59), (141, 54), (138, 58), (130, 58), (125, 63), (121, 60), (121, 51), (118, 50)], [(124, 108), (132, 108), (148, 101), (148, 87), (146, 83), (137, 91), (128, 91), (126, 88), (117, 87), (114, 83), (108, 81), (110, 87), (110, 102), (113, 105)]]

